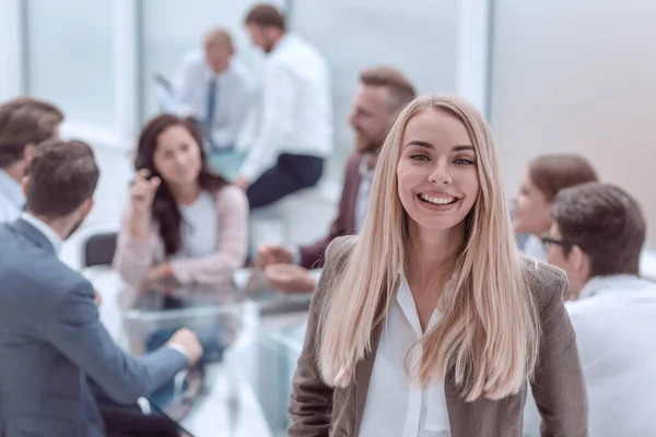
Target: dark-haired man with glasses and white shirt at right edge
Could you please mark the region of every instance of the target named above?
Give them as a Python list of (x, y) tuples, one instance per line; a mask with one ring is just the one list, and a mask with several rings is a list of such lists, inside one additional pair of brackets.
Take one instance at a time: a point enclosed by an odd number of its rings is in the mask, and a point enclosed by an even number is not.
[[(639, 275), (646, 226), (622, 189), (590, 182), (559, 192), (542, 238), (567, 272), (565, 304), (587, 387), (595, 437), (656, 435), (656, 284)], [(547, 339), (548, 340), (548, 339)], [(527, 402), (525, 435), (539, 436)]]

